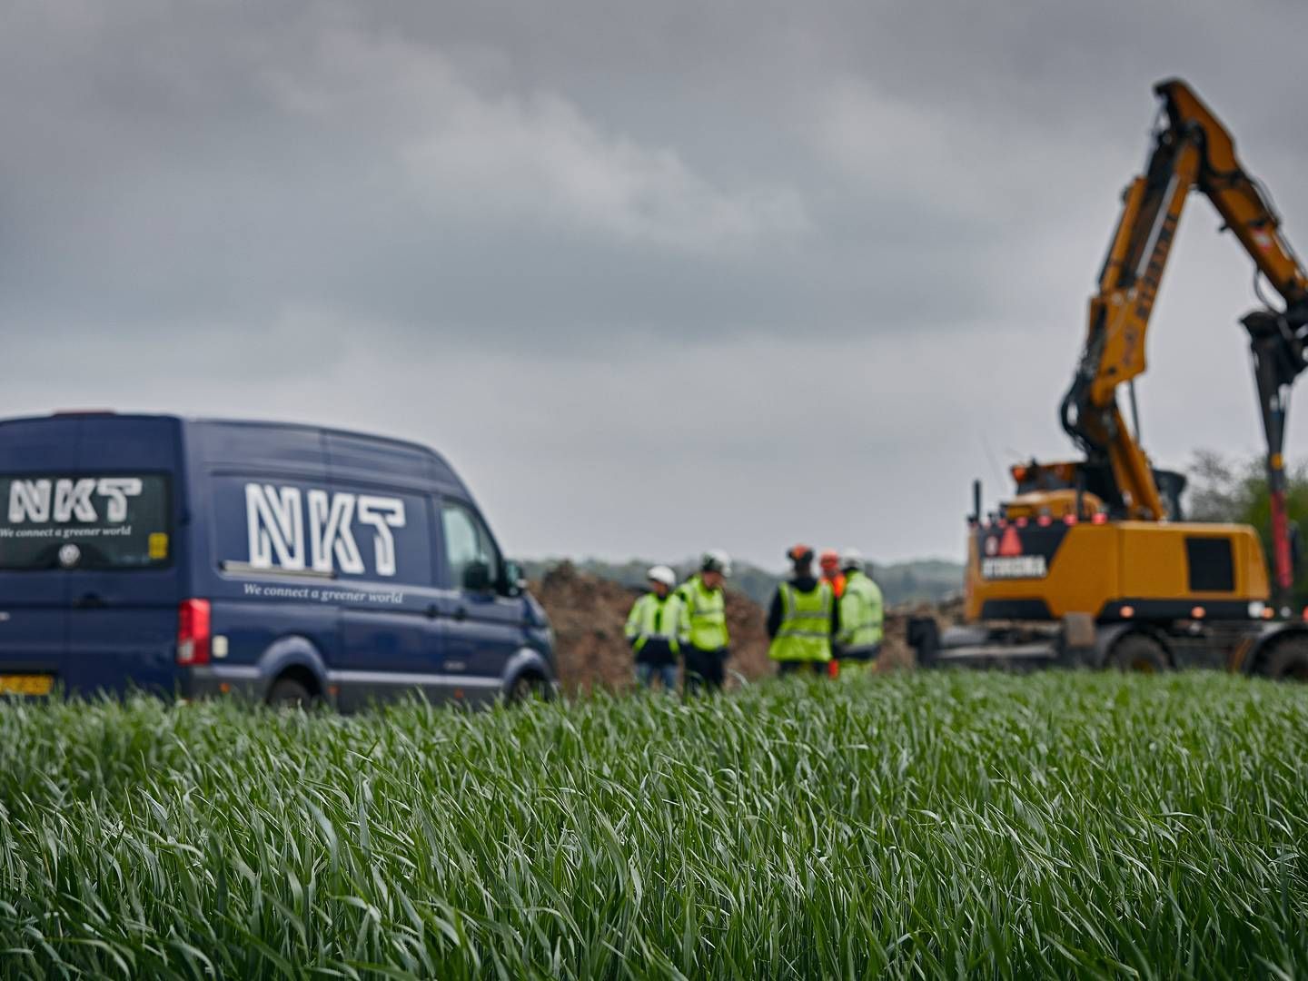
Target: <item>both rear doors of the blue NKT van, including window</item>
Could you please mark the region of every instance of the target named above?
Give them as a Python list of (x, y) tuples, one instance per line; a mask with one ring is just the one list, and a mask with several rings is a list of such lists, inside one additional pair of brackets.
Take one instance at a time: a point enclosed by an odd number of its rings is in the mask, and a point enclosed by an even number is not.
[(153, 416), (0, 425), (0, 687), (171, 691), (179, 433)]

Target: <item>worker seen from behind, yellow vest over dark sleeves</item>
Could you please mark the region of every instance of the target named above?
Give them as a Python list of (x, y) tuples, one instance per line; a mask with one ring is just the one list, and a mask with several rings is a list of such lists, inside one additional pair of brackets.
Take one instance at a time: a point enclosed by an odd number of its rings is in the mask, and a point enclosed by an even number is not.
[(814, 577), (808, 545), (794, 545), (786, 557), (791, 576), (777, 586), (768, 610), (768, 657), (780, 663), (783, 675), (811, 671), (825, 676), (831, 640), (840, 629), (836, 593), (829, 582)]

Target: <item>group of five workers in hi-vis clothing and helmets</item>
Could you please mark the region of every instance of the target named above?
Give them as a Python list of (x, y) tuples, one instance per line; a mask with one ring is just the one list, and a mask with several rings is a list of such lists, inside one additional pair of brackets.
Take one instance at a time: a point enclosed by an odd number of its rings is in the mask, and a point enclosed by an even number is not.
[[(857, 549), (823, 552), (820, 574), (814, 573), (814, 549), (802, 544), (786, 552), (791, 570), (768, 610), (768, 657), (781, 674), (836, 678), (876, 659), (884, 603)], [(679, 662), (685, 666), (688, 696), (722, 687), (731, 655), (723, 593), (730, 574), (731, 560), (721, 551), (706, 552), (700, 570), (680, 586), (671, 568), (649, 570), (649, 593), (627, 617), (642, 687), (676, 691)]]

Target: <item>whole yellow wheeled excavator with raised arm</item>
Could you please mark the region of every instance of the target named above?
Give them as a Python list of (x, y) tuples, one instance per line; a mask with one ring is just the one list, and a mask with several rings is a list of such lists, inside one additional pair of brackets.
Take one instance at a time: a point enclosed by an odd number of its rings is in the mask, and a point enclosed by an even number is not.
[[(1015, 466), (1016, 494), (988, 515), (973, 484), (964, 627), (909, 624), (918, 662), (1160, 671), (1224, 666), (1308, 680), (1308, 624), (1286, 603), (1295, 538), (1282, 458), (1290, 388), (1305, 368), (1308, 272), (1231, 133), (1182, 81), (1155, 86), (1160, 124), (1090, 301), (1090, 327), (1061, 404), (1082, 459)], [(1134, 379), (1159, 284), (1192, 191), (1279, 294), (1241, 320), (1266, 434), (1275, 596), (1262, 543), (1243, 525), (1185, 522), (1181, 475), (1141, 447)], [(1261, 293), (1260, 293), (1261, 298)], [(1118, 403), (1125, 388), (1130, 424)]]

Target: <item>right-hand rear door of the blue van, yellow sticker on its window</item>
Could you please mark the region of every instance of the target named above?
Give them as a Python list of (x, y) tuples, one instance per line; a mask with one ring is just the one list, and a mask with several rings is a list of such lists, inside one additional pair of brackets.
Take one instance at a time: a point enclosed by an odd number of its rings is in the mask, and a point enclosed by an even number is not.
[(81, 420), (77, 473), (106, 493), (92, 496), (94, 522), (67, 538), (81, 551), (65, 572), (69, 688), (122, 692), (133, 684), (169, 693), (175, 685), (179, 460), (175, 419)]

